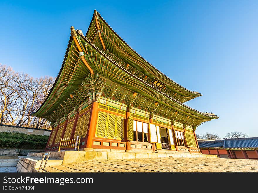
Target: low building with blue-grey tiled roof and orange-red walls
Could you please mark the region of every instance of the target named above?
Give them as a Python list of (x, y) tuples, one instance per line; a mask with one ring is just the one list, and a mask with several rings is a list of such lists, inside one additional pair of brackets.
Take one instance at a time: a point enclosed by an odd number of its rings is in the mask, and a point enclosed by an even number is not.
[(258, 137), (198, 142), (201, 153), (221, 158), (258, 159)]

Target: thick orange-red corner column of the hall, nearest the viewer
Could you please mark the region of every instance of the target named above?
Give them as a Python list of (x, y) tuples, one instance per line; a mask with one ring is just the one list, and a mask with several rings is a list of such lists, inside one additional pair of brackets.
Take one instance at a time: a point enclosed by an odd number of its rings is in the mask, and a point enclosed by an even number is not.
[(87, 139), (86, 148), (91, 148), (93, 137), (95, 137), (98, 113), (99, 113), (99, 103), (98, 101), (94, 101), (91, 106), (90, 125), (86, 135), (86, 139)]

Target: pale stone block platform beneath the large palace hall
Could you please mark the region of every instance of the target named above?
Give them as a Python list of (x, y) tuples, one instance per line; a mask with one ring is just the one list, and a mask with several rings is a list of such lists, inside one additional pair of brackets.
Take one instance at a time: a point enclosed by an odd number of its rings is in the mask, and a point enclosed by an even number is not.
[[(28, 156), (19, 156), (17, 164), (18, 172), (38, 172), (40, 162), (44, 152), (30, 153)], [(157, 153), (148, 152), (125, 152), (102, 149), (84, 149), (84, 151), (60, 151), (51, 152), (48, 166), (67, 165), (79, 162), (99, 161), (99, 160), (128, 160), (128, 159), (149, 159), (149, 158), (217, 158), (216, 155), (190, 154), (189, 152), (177, 151), (158, 151)], [(43, 161), (42, 168), (45, 164)]]

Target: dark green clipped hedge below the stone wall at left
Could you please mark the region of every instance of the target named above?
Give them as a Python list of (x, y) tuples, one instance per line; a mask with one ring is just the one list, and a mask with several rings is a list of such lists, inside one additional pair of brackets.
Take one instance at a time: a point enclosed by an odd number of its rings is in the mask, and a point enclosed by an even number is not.
[(45, 149), (48, 137), (47, 135), (0, 132), (0, 148)]

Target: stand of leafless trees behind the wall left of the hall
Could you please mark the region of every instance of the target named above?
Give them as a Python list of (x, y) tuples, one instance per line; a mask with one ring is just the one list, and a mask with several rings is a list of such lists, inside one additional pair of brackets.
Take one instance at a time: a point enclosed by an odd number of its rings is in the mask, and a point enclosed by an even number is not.
[(31, 116), (44, 102), (53, 77), (32, 78), (0, 64), (0, 124), (50, 128), (46, 119)]

